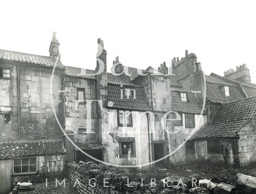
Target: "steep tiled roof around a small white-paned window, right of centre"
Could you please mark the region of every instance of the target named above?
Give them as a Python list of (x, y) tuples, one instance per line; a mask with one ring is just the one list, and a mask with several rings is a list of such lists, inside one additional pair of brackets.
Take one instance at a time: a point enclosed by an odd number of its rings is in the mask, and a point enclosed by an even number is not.
[[(188, 90), (184, 89), (180, 90), (172, 90), (172, 110), (175, 112), (184, 112), (184, 113), (194, 113), (200, 114), (202, 112), (202, 108), (199, 106), (196, 97), (193, 93), (188, 92)], [(180, 98), (179, 92), (186, 92), (188, 101), (183, 102)]]

